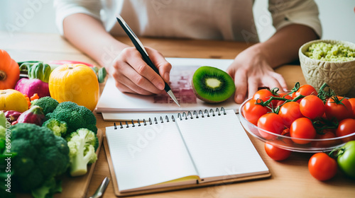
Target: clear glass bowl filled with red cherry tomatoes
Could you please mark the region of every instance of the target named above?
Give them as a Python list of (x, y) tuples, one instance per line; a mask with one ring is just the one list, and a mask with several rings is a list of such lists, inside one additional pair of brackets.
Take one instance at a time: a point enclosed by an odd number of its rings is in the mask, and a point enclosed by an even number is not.
[(292, 91), (261, 89), (239, 107), (239, 120), (257, 139), (289, 151), (332, 151), (355, 140), (355, 98), (296, 83)]

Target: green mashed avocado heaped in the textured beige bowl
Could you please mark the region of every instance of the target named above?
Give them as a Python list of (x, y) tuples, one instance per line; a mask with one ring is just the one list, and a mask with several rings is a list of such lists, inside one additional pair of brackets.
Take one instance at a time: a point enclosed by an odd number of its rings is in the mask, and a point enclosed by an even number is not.
[(355, 50), (340, 43), (314, 43), (308, 48), (305, 55), (311, 59), (318, 59), (326, 62), (347, 62), (355, 60)]

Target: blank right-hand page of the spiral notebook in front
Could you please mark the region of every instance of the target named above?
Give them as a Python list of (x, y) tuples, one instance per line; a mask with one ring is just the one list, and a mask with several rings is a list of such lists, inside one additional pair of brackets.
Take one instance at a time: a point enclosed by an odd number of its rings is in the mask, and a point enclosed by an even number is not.
[(233, 110), (177, 123), (204, 181), (268, 173)]

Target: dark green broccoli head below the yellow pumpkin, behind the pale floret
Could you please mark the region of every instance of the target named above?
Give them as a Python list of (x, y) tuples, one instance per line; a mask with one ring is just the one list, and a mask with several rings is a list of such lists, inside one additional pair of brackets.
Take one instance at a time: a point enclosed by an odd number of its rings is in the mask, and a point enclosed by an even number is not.
[(87, 107), (77, 105), (70, 101), (60, 103), (48, 118), (54, 118), (67, 123), (67, 134), (77, 129), (86, 128), (97, 133), (96, 117)]

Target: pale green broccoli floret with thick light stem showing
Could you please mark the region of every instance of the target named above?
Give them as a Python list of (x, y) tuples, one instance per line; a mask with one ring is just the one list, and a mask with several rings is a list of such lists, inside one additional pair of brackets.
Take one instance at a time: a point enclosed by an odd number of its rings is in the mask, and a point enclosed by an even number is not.
[(89, 129), (77, 129), (67, 137), (70, 157), (70, 175), (73, 177), (87, 173), (87, 165), (97, 161), (97, 136)]

